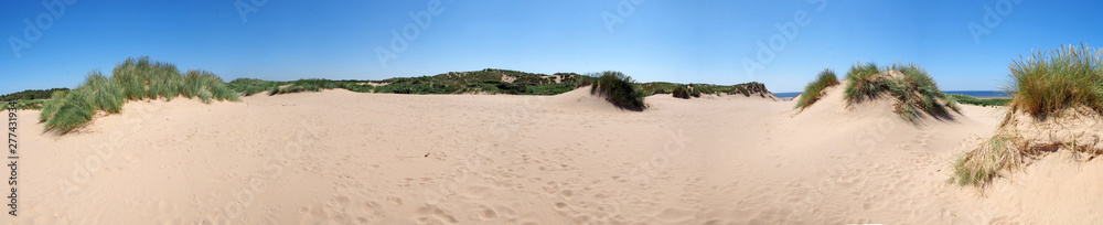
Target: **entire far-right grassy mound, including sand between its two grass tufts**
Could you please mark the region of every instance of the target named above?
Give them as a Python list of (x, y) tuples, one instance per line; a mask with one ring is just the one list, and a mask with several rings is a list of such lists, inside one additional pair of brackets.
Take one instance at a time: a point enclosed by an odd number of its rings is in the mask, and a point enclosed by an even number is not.
[[(1083, 152), (1091, 156), (1088, 159), (1103, 153), (1103, 149), (1090, 148), (1093, 144), (1097, 148), (1100, 143), (1078, 142), (1090, 140), (1084, 133), (1097, 132), (1096, 127), (1078, 128), (1082, 125), (1063, 124), (1097, 124), (1097, 116), (1103, 114), (1103, 67), (1099, 49), (1062, 46), (1035, 53), (1022, 61), (1013, 61), (1009, 67), (1009, 89), (1015, 96), (1008, 104), (1010, 110), (995, 137), (966, 152), (953, 164), (955, 172), (951, 181), (959, 185), (984, 186), (1004, 172), (1020, 169), (1029, 163), (1029, 159), (1046, 152)], [(1065, 116), (1069, 119), (1052, 119)]]

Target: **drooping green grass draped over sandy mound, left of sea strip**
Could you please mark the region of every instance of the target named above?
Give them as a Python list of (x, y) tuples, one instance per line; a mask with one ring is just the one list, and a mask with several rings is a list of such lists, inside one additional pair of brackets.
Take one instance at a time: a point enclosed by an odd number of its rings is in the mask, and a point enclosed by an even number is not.
[(949, 117), (946, 109), (957, 110), (956, 104), (939, 89), (927, 69), (915, 64), (895, 64), (878, 67), (877, 64), (855, 64), (846, 73), (847, 85), (844, 97), (849, 104), (858, 104), (887, 94), (897, 99), (893, 105), (904, 120), (917, 122), (920, 113), (936, 118)]

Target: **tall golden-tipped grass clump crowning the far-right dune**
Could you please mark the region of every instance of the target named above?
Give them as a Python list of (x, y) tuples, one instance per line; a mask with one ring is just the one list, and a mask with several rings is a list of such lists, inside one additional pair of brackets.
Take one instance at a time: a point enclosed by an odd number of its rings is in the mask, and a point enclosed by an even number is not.
[(1013, 61), (1013, 111), (1045, 117), (1075, 106), (1103, 113), (1103, 66), (1099, 49), (1061, 46)]

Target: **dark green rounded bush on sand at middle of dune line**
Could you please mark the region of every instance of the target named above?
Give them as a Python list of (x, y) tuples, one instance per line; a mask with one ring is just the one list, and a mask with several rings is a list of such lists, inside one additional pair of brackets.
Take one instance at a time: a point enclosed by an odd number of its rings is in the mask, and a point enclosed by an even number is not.
[(646, 108), (643, 104), (643, 92), (635, 81), (620, 72), (601, 72), (590, 86), (590, 93), (603, 95), (607, 100), (621, 108), (630, 110)]

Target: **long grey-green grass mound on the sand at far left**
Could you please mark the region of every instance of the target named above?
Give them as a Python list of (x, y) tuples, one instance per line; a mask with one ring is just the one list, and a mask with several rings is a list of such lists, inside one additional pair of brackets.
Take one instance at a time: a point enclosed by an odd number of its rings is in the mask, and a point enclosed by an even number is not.
[(212, 100), (238, 100), (238, 95), (218, 76), (204, 71), (182, 75), (172, 64), (150, 62), (149, 57), (127, 58), (113, 71), (110, 78), (94, 71), (77, 88), (54, 92), (43, 103), (40, 121), (46, 130), (67, 133), (92, 120), (97, 111), (118, 114), (127, 100), (175, 97)]

